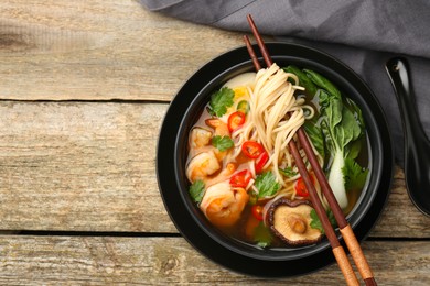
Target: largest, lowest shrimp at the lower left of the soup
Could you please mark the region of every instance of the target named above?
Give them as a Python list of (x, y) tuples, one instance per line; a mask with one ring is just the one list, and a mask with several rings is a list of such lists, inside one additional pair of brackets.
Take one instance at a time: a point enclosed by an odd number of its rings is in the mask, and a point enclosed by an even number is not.
[(233, 188), (226, 180), (206, 189), (200, 208), (213, 224), (230, 227), (239, 220), (248, 200), (244, 188)]

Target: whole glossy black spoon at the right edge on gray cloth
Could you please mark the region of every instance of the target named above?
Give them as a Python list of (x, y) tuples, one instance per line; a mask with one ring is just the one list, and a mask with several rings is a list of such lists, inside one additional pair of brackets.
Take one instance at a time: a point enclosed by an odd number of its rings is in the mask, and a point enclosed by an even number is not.
[(391, 58), (386, 69), (404, 122), (406, 187), (415, 206), (430, 216), (430, 142), (416, 109), (408, 62), (402, 57)]

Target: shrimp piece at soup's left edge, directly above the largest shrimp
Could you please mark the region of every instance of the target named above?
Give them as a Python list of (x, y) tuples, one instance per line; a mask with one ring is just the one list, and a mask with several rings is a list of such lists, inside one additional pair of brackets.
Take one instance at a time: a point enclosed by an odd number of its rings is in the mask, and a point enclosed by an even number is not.
[(221, 168), (214, 151), (207, 151), (194, 156), (186, 166), (186, 177), (190, 182), (204, 179)]

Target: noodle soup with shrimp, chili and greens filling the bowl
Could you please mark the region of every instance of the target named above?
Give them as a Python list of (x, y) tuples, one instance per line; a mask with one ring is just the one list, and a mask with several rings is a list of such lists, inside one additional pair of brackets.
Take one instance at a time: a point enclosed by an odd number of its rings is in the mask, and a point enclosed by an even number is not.
[[(353, 209), (368, 174), (359, 108), (318, 73), (273, 64), (214, 90), (189, 134), (190, 196), (213, 226), (260, 248), (322, 239), (288, 147), (300, 128), (341, 208), (345, 215)], [(331, 217), (304, 151), (300, 153)]]

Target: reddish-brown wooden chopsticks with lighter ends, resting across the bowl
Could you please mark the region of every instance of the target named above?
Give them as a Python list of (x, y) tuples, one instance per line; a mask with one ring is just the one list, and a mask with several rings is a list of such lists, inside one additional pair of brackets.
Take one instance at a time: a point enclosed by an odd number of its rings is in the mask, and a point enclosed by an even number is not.
[[(258, 47), (261, 51), (262, 58), (265, 59), (265, 63), (267, 67), (270, 67), (272, 65), (272, 59), (266, 48), (265, 42), (262, 41), (256, 24), (254, 23), (252, 16), (247, 16), (249, 25), (252, 30), (254, 36), (256, 37)], [(251, 43), (249, 41), (249, 37), (247, 35), (244, 36), (244, 41), (246, 43), (246, 46), (248, 48), (248, 53), (252, 59), (254, 66), (256, 70), (261, 69), (261, 66), (258, 62), (257, 55), (255, 54)], [(330, 205), (330, 208), (333, 211), (333, 215), (337, 221), (337, 226), (341, 230), (341, 234), (346, 243), (347, 249), (350, 250), (350, 253), (354, 260), (355, 265), (357, 266), (357, 270), (364, 279), (366, 285), (377, 285), (376, 280), (374, 278), (374, 275), (372, 273), (372, 270), (367, 263), (366, 257), (364, 256), (364, 253), (362, 251), (362, 248), (359, 246), (359, 243), (353, 232), (353, 229), (351, 228), (350, 223), (346, 221), (345, 216), (342, 212), (341, 207), (337, 204), (336, 198), (334, 197), (334, 194), (332, 191), (332, 188), (329, 185), (329, 182), (325, 178), (325, 175), (323, 170), (320, 167), (320, 164), (318, 163), (316, 156), (313, 153), (311, 143), (309, 142), (309, 139), (302, 128), (300, 128), (297, 132), (298, 139), (300, 141), (300, 144), (302, 145), (304, 153), (307, 154), (307, 157), (309, 162), (311, 163), (312, 169), (316, 176), (316, 179), (319, 180), (321, 185), (321, 189)], [(320, 218), (320, 221), (323, 226), (325, 235), (329, 239), (330, 245), (332, 246), (333, 254), (337, 261), (338, 267), (342, 271), (342, 274), (344, 275), (347, 285), (359, 285), (357, 277), (353, 271), (353, 267), (350, 263), (350, 260), (345, 253), (345, 250), (341, 245), (340, 241), (337, 240), (337, 237), (333, 230), (332, 224), (329, 221), (327, 215), (325, 212), (324, 207), (322, 206), (320, 198), (316, 194), (315, 187), (312, 184), (312, 180), (310, 178), (310, 175), (308, 173), (308, 169), (303, 163), (302, 157), (300, 156), (298, 146), (295, 145), (295, 142), (291, 140), (289, 142), (289, 148), (291, 151), (291, 154), (297, 163), (297, 166), (299, 168), (299, 173), (301, 177), (303, 178), (304, 185), (308, 188), (309, 196), (311, 199), (311, 202), (316, 211), (318, 217)]]

